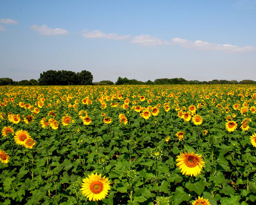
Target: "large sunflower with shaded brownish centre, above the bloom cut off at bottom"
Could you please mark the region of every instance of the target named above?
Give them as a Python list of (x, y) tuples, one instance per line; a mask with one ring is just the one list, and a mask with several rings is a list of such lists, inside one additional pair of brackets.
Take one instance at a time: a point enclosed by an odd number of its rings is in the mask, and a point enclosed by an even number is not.
[(180, 155), (178, 156), (178, 159), (176, 159), (176, 164), (179, 169), (181, 169), (180, 172), (186, 175), (190, 175), (191, 177), (197, 176), (201, 173), (205, 162), (202, 159), (202, 155), (194, 154), (191, 152), (191, 154), (188, 152), (180, 152)]

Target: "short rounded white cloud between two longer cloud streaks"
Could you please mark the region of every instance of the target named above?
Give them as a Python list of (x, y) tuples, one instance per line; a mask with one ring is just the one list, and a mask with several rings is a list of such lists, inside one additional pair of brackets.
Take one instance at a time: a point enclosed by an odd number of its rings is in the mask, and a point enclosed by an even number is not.
[(159, 38), (155, 36), (150, 36), (149, 34), (147, 35), (140, 35), (140, 36), (135, 36), (132, 40), (131, 43), (136, 43), (141, 46), (161, 46), (163, 45), (163, 41), (160, 40)]

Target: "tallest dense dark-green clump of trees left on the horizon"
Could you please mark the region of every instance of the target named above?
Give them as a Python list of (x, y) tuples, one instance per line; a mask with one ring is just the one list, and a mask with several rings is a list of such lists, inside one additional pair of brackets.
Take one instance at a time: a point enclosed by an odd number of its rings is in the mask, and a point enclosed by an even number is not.
[(93, 85), (93, 75), (87, 70), (47, 70), (40, 73), (39, 85)]

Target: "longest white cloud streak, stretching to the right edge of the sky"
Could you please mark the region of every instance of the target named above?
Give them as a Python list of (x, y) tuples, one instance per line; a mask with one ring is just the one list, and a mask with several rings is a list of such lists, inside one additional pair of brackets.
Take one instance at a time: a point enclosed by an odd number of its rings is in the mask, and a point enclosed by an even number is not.
[(227, 52), (246, 52), (246, 51), (256, 51), (254, 46), (235, 46), (231, 44), (215, 44), (207, 41), (191, 41), (183, 38), (172, 38), (171, 41), (165, 41), (167, 45), (181, 45), (188, 49), (198, 49), (198, 50), (208, 50), (208, 51), (227, 51)]

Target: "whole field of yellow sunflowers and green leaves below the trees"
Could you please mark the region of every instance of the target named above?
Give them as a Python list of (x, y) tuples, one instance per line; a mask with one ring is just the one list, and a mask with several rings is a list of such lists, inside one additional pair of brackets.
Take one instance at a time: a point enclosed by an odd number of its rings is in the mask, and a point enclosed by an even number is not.
[(256, 87), (0, 87), (0, 203), (254, 204)]

